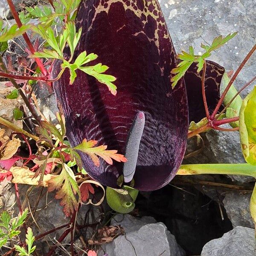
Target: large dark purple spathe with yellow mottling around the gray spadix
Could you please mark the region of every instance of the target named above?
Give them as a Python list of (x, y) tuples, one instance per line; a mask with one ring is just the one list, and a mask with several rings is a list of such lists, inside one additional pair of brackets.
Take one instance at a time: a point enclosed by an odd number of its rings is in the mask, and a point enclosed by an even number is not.
[[(183, 81), (172, 90), (170, 71), (175, 50), (159, 4), (154, 0), (84, 0), (77, 27), (82, 27), (79, 52), (99, 55), (95, 64), (108, 65), (117, 78), (117, 95), (104, 84), (78, 72), (73, 85), (65, 72), (54, 89), (66, 117), (71, 145), (86, 138), (125, 153), (128, 132), (136, 114), (145, 113), (134, 187), (150, 191), (175, 176), (186, 148), (188, 107)], [(54, 67), (55, 75), (59, 64)], [(84, 168), (95, 180), (117, 188), (123, 164), (101, 160), (94, 166), (81, 153)]]

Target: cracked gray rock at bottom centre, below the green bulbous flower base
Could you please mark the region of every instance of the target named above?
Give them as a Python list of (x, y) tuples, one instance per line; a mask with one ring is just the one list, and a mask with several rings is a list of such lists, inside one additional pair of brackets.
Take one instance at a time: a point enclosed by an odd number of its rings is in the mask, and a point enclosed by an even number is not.
[(111, 243), (103, 246), (102, 254), (111, 256), (182, 256), (183, 249), (179, 247), (166, 226), (156, 223), (152, 217), (135, 218), (131, 215), (116, 215), (111, 225), (121, 225), (124, 236), (119, 236)]

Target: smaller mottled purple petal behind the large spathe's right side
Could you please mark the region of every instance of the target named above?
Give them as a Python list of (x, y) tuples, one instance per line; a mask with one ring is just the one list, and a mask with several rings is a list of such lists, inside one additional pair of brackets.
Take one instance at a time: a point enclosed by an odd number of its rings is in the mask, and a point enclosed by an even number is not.
[[(197, 69), (196, 63), (193, 63), (184, 76), (189, 103), (189, 122), (199, 122), (206, 116), (201, 86), (203, 71), (197, 73)], [(224, 72), (224, 67), (207, 61), (204, 86), (210, 114), (220, 98), (220, 84)]]

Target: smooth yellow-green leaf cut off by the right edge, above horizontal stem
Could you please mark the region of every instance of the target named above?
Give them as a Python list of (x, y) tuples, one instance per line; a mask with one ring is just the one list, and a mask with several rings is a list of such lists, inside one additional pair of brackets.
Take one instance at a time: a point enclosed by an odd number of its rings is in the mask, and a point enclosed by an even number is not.
[(244, 159), (247, 163), (256, 165), (256, 86), (241, 105), (239, 134)]

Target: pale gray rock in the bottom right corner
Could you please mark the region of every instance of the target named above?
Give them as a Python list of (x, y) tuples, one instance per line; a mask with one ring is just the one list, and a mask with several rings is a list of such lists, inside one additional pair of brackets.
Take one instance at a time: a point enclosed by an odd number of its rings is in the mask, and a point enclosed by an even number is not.
[(209, 241), (201, 256), (255, 256), (256, 242), (254, 230), (248, 227), (235, 227), (221, 238)]

